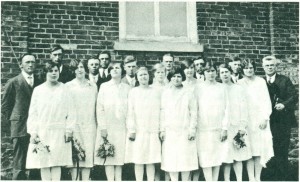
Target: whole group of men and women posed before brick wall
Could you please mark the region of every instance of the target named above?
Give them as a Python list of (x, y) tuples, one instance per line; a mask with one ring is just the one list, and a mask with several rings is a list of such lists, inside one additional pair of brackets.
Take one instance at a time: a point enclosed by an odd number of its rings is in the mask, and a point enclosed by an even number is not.
[[(109, 181), (124, 180), (122, 171), (142, 181), (144, 168), (149, 181), (162, 180), (162, 171), (165, 180), (197, 181), (200, 168), (205, 180), (217, 181), (223, 165), (226, 181), (232, 166), (242, 181), (243, 162), (249, 181), (260, 181), (266, 167), (276, 175), (270, 180), (287, 179), (297, 94), (289, 78), (276, 73), (274, 56), (262, 59), (261, 78), (248, 59), (216, 65), (201, 56), (175, 65), (165, 54), (148, 69), (133, 56), (111, 61), (106, 51), (65, 66), (63, 54), (53, 47), (38, 76), (35, 56), (24, 54), (21, 74), (5, 86), (2, 114), (11, 123), (14, 180), (26, 179), (25, 169), (60, 180), (62, 167), (73, 180), (79, 173), (89, 180), (101, 165)], [(85, 153), (78, 164), (74, 142)], [(114, 155), (99, 157), (107, 142)], [(128, 163), (134, 169), (122, 169)]]

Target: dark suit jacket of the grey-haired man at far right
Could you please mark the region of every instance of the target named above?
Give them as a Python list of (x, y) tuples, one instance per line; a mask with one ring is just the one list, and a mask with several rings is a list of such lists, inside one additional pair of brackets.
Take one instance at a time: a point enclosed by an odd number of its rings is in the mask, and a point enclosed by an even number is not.
[[(266, 76), (264, 76), (264, 79), (267, 82)], [(291, 80), (286, 76), (276, 74), (274, 82), (271, 84), (267, 82), (267, 86), (273, 108), (270, 116), (271, 122), (288, 122), (295, 125), (294, 110), (298, 95)], [(277, 111), (274, 108), (276, 103), (282, 103), (285, 106), (284, 110)]]

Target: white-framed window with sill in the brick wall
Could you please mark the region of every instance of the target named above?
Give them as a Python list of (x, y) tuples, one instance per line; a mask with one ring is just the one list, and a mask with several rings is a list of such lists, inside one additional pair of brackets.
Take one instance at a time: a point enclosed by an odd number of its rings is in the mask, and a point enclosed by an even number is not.
[(182, 51), (202, 52), (198, 45), (196, 2), (119, 2), (119, 42), (115, 49), (126, 44), (132, 49), (156, 46), (159, 50), (168, 44), (169, 49), (175, 46), (174, 51), (180, 51), (178, 43), (188, 49)]

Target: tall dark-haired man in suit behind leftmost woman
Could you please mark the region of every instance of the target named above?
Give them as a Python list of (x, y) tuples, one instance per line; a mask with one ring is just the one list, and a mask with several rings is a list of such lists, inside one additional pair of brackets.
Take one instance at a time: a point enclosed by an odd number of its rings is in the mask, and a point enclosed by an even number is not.
[(50, 59), (52, 62), (59, 65), (59, 82), (66, 83), (75, 78), (75, 74), (72, 73), (68, 66), (62, 64), (64, 57), (64, 49), (60, 45), (54, 45), (51, 48)]

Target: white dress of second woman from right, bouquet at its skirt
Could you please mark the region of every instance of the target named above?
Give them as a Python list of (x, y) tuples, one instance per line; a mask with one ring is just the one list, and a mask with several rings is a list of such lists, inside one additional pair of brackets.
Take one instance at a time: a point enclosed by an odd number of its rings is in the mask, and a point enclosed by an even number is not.
[[(247, 132), (248, 108), (246, 94), (243, 88), (237, 84), (226, 85), (229, 106), (229, 126), (227, 143), (228, 153), (224, 160), (225, 163), (233, 163), (234, 161), (245, 161), (252, 157), (249, 134)], [(243, 130), (246, 134), (243, 136), (246, 146), (243, 148), (236, 147), (233, 138), (239, 130)]]

